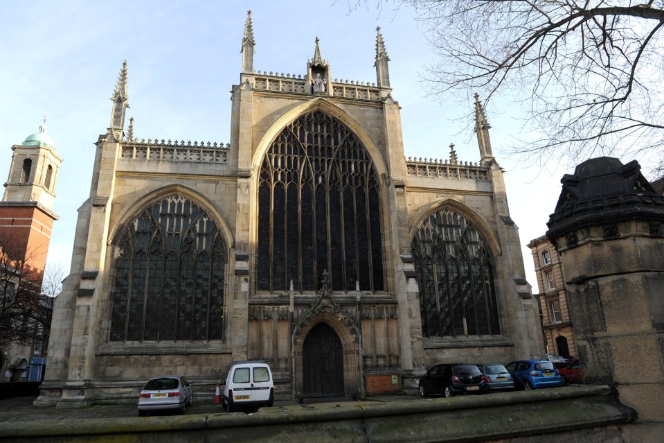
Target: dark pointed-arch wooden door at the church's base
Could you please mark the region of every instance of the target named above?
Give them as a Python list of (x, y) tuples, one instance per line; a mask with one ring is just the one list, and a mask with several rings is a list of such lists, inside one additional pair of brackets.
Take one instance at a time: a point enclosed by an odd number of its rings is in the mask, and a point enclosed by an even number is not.
[(343, 351), (337, 332), (327, 323), (309, 331), (302, 349), (302, 395), (343, 397)]

